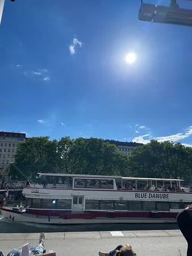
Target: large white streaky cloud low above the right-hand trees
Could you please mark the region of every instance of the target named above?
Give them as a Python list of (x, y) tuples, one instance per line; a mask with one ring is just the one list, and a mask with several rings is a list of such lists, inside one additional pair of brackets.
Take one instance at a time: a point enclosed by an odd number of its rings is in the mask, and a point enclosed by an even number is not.
[[(181, 141), (182, 139), (186, 139), (192, 135), (192, 126), (189, 126), (183, 133), (177, 133), (173, 135), (168, 135), (168, 136), (161, 136), (161, 137), (153, 137), (151, 134), (144, 134), (140, 135), (138, 137), (135, 137), (132, 139), (133, 142), (137, 143), (149, 143), (151, 139), (155, 139), (158, 142), (164, 142), (164, 141), (172, 141), (172, 142), (178, 142)], [(183, 143), (185, 144), (185, 143)]]

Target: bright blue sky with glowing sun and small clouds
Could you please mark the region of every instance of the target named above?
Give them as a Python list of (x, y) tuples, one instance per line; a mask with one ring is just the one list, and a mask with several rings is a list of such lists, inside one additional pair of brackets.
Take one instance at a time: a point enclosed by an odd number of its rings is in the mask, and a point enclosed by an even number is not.
[(6, 0), (0, 130), (192, 145), (192, 27), (141, 22), (139, 7), (139, 0)]

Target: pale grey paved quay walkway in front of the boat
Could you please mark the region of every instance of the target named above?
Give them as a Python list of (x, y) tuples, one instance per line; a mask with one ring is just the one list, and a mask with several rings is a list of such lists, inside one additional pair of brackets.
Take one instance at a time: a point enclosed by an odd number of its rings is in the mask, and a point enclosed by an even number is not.
[[(26, 242), (36, 246), (38, 237), (39, 233), (0, 234), (0, 251), (6, 255)], [(55, 250), (57, 256), (96, 256), (99, 250), (110, 251), (121, 243), (131, 243), (137, 256), (177, 256), (178, 249), (186, 255), (180, 230), (45, 233), (47, 251)]]

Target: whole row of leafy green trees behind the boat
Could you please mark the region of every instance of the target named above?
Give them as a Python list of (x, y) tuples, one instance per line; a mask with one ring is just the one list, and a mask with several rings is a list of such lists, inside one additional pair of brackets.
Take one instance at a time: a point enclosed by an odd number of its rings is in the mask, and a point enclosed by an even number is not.
[(181, 143), (157, 142), (135, 147), (132, 155), (116, 151), (103, 139), (59, 141), (34, 137), (20, 143), (9, 174), (17, 179), (35, 179), (41, 173), (94, 174), (139, 177), (182, 177), (190, 180), (192, 148)]

